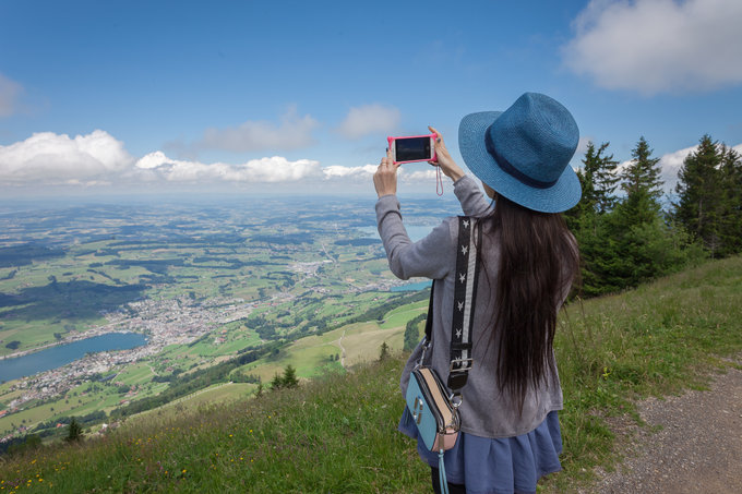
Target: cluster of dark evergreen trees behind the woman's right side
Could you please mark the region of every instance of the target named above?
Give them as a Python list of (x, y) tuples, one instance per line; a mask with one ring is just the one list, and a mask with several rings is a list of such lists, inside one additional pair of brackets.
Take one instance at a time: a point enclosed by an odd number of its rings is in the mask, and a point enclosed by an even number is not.
[(742, 252), (742, 160), (704, 135), (663, 196), (659, 158), (642, 137), (619, 167), (609, 143), (589, 143), (583, 198), (566, 213), (584, 261), (583, 293), (610, 293), (704, 257)]

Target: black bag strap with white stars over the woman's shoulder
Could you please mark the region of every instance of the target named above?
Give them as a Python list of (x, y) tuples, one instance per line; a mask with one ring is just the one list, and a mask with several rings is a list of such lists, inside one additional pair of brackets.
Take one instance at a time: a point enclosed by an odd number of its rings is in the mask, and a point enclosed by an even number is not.
[[(458, 395), (466, 385), (471, 359), (471, 333), (474, 329), (474, 311), (477, 300), (477, 282), (479, 280), (479, 255), (481, 245), (481, 224), (468, 216), (458, 217), (458, 245), (456, 246), (456, 286), (454, 288), (454, 309), (451, 330), (451, 366), (448, 369), (448, 388)], [(430, 288), (428, 318), (426, 320), (426, 340), (432, 344), (433, 337), (433, 296), (435, 280)]]

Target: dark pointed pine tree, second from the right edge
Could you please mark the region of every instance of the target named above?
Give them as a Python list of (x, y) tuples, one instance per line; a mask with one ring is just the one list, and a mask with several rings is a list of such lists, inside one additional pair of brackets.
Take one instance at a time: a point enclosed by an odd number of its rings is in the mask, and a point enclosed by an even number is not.
[(726, 149), (706, 134), (678, 172), (674, 218), (716, 256), (719, 250), (723, 194), (721, 162)]

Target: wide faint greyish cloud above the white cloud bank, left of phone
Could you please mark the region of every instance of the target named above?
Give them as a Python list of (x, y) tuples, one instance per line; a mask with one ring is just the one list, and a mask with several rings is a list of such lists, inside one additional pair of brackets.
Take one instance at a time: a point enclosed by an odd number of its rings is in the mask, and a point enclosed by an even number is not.
[(200, 147), (232, 152), (287, 150), (314, 143), (312, 131), (320, 123), (311, 116), (299, 117), (295, 107), (280, 118), (280, 123), (247, 121), (236, 128), (206, 129)]

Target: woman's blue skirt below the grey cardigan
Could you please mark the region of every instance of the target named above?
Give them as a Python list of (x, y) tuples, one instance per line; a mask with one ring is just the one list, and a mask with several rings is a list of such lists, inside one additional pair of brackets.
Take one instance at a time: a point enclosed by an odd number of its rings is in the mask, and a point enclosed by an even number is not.
[[(420, 458), (438, 468), (438, 454), (426, 448), (407, 407), (399, 432), (417, 439)], [(552, 411), (539, 426), (519, 436), (493, 439), (459, 432), (456, 445), (444, 454), (444, 463), (448, 482), (466, 485), (470, 494), (535, 493), (542, 475), (562, 469), (561, 451), (559, 413)]]

